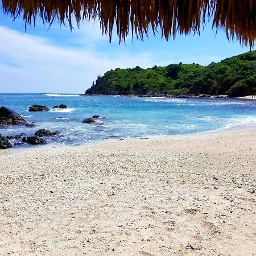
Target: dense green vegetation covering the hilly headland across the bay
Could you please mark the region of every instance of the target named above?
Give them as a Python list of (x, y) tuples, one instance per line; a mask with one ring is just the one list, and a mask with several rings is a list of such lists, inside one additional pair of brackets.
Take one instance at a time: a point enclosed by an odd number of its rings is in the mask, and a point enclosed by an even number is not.
[(207, 67), (199, 64), (171, 64), (167, 67), (140, 67), (110, 70), (98, 76), (86, 94), (169, 93), (231, 97), (256, 94), (256, 51), (230, 57)]

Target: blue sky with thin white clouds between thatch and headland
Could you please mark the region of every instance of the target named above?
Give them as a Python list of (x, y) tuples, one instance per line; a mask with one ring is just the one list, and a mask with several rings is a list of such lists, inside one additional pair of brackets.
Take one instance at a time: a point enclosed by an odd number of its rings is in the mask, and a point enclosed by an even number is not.
[(226, 57), (249, 51), (238, 42), (230, 43), (225, 32), (217, 37), (211, 26), (199, 35), (177, 35), (161, 40), (150, 35), (141, 40), (128, 38), (121, 43), (113, 35), (101, 35), (100, 24), (84, 23), (80, 29), (57, 23), (44, 28), (24, 29), (23, 20), (13, 22), (0, 10), (0, 92), (10, 93), (83, 93), (97, 75), (109, 69), (142, 68), (172, 63), (208, 65)]

